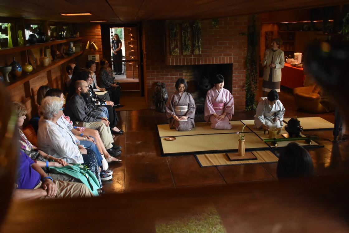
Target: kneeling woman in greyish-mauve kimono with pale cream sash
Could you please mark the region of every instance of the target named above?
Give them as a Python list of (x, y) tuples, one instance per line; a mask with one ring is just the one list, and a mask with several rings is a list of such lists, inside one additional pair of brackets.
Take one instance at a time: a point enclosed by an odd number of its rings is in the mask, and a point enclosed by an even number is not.
[(170, 123), (170, 128), (177, 131), (189, 131), (195, 127), (195, 102), (188, 92), (186, 81), (178, 78), (176, 91), (170, 96), (166, 103), (166, 115)]

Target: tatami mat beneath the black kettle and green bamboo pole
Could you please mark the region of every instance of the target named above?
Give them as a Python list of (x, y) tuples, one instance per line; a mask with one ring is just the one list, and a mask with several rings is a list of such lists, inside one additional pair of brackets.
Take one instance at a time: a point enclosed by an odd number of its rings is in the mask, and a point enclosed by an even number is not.
[[(260, 138), (262, 138), (262, 140), (263, 139), (269, 139), (268, 131), (266, 131), (265, 134), (264, 134), (264, 130), (263, 129), (256, 129), (256, 128), (254, 128), (254, 120), (244, 120), (242, 122), (244, 124), (246, 124), (246, 126), (248, 128), (250, 128), (255, 134), (257, 134)], [(287, 134), (284, 126), (285, 126), (285, 124), (282, 126), (280, 134), (276, 135), (276, 138), (285, 138), (285, 137), (282, 136), (282, 134)], [(303, 136), (303, 135), (301, 135), (301, 136)], [(309, 143), (305, 142), (305, 141), (283, 141), (283, 142), (277, 142), (277, 144), (278, 144), (277, 148), (281, 148), (281, 147), (287, 146), (287, 144), (289, 144), (290, 142), (297, 142), (301, 146), (319, 146), (319, 144), (314, 142), (314, 141), (312, 141), (311, 145)], [(271, 142), (268, 142), (267, 144), (269, 146), (271, 146), (272, 148), (276, 147)]]

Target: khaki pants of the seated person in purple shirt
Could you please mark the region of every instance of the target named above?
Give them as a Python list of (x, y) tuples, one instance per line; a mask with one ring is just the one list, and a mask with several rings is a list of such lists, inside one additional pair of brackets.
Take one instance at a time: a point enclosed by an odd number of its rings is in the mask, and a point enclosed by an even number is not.
[[(67, 182), (62, 180), (53, 180), (57, 186), (57, 194), (55, 198), (76, 198), (76, 197), (93, 197), (90, 189), (83, 183)], [(34, 189), (41, 188), (40, 181)], [(50, 199), (51, 197), (40, 197), (40, 200)]]

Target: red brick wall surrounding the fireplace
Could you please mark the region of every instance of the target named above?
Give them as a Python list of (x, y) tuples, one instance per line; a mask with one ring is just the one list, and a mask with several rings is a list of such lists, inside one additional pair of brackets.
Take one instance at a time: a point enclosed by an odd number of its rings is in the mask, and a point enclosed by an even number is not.
[[(239, 33), (247, 32), (247, 22), (247, 16), (220, 18), (218, 28), (214, 29), (211, 20), (202, 20), (202, 54), (177, 56), (166, 55), (166, 50), (168, 50), (168, 45), (165, 43), (166, 22), (144, 22), (144, 91), (148, 106), (153, 107), (152, 95), (156, 82), (165, 82), (168, 92), (172, 93), (176, 80), (183, 77), (183, 65), (194, 65), (195, 60), (196, 64), (233, 64), (232, 89), (230, 91), (234, 96), (235, 110), (237, 112), (243, 111), (245, 109), (247, 37), (239, 35)], [(166, 63), (172, 64), (169, 59), (173, 59), (176, 64), (183, 65), (166, 65)], [(186, 63), (187, 61), (188, 63)]]

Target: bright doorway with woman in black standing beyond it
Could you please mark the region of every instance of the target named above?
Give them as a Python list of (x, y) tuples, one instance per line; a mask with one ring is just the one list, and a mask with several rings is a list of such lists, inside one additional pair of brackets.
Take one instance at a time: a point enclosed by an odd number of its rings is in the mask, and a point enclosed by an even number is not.
[(122, 91), (139, 91), (143, 96), (139, 26), (103, 24), (101, 30), (103, 57), (109, 61), (115, 80)]

